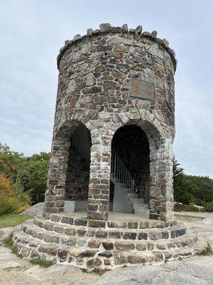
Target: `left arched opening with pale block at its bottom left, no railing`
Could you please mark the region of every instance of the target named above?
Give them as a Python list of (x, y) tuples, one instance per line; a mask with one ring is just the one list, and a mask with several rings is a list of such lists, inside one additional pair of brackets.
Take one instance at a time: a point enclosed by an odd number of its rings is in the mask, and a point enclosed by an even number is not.
[(70, 138), (64, 212), (87, 209), (90, 149), (90, 132), (81, 124), (75, 128)]

